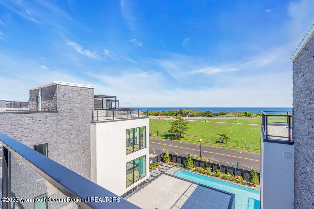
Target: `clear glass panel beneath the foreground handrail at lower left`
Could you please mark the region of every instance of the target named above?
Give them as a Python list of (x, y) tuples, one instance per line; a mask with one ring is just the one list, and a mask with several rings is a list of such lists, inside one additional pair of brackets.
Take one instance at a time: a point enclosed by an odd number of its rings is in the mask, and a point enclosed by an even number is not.
[(13, 153), (11, 153), (11, 191), (9, 194), (11, 197), (19, 198), (19, 201), (10, 203), (11, 208), (77, 208), (75, 203), (67, 201), (67, 196)]

